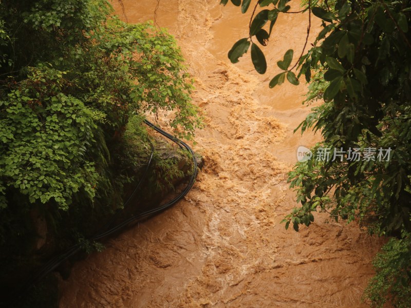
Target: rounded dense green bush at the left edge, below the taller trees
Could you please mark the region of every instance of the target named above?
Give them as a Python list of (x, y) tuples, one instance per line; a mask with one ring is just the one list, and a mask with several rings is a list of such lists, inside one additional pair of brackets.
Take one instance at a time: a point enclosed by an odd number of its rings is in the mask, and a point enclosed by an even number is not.
[(26, 80), (0, 100), (0, 178), (6, 189), (27, 195), (30, 203), (55, 201), (67, 209), (80, 190), (92, 199), (98, 174), (87, 155), (95, 146), (96, 123), (104, 114), (62, 93), (64, 72), (32, 68)]

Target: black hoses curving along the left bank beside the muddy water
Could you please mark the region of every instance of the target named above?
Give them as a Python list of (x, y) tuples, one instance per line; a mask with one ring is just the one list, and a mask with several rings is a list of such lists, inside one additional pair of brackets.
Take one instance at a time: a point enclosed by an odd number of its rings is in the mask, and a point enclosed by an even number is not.
[[(178, 138), (174, 137), (173, 135), (171, 135), (171, 134), (167, 133), (166, 131), (162, 130), (161, 128), (155, 126), (150, 121), (144, 120), (144, 123), (146, 125), (150, 126), (151, 128), (153, 128), (154, 130), (156, 130), (157, 132), (159, 132), (160, 134), (162, 134), (164, 137), (166, 137), (166, 138), (170, 139), (171, 141), (173, 141), (174, 143), (176, 143), (180, 148), (185, 148), (186, 150), (188, 150), (190, 152), (190, 154), (192, 156), (192, 159), (193, 159), (193, 172), (192, 172), (192, 175), (190, 177), (190, 181), (186, 185), (186, 187), (183, 189), (183, 191), (180, 192), (180, 194), (178, 194), (178, 196), (176, 196), (175, 198), (173, 198), (169, 202), (166, 202), (165, 204), (160, 205), (156, 208), (152, 208), (152, 209), (143, 211), (140, 214), (133, 215), (132, 217), (124, 220), (123, 222), (119, 223), (115, 227), (110, 228), (110, 229), (106, 230), (105, 232), (102, 232), (102, 233), (97, 234), (95, 236), (92, 236), (91, 238), (88, 239), (89, 241), (96, 241), (96, 240), (102, 239), (102, 238), (104, 238), (108, 235), (116, 233), (119, 229), (123, 228), (124, 226), (126, 226), (130, 222), (144, 220), (144, 219), (147, 219), (150, 216), (153, 216), (155, 214), (160, 213), (161, 211), (165, 210), (166, 208), (171, 207), (172, 205), (174, 205), (175, 203), (180, 201), (182, 198), (184, 198), (184, 196), (186, 194), (188, 194), (188, 192), (190, 191), (190, 189), (194, 185), (194, 181), (197, 177), (197, 159), (196, 159), (194, 151), (191, 149), (191, 147), (189, 145), (187, 145), (185, 142), (179, 140)], [(140, 184), (142, 183), (143, 179), (147, 175), (147, 171), (148, 171), (148, 168), (150, 167), (151, 161), (153, 159), (153, 154), (154, 154), (153, 144), (151, 144), (151, 147), (152, 147), (152, 153), (151, 153), (150, 159), (148, 160), (147, 167), (144, 171), (143, 177), (140, 179), (139, 183), (137, 184), (136, 188), (133, 190), (132, 194), (124, 202), (124, 206), (126, 206), (128, 204), (128, 202), (130, 202), (130, 200), (132, 200), (132, 198), (135, 196)], [(43, 277), (45, 277), (48, 273), (53, 271), (53, 269), (58, 267), (63, 261), (67, 260), (68, 258), (73, 256), (74, 254), (76, 254), (81, 249), (81, 246), (82, 246), (82, 243), (74, 244), (73, 246), (68, 248), (66, 252), (64, 252), (63, 254), (61, 254), (57, 257), (52, 258), (45, 265), (43, 265), (43, 267), (35, 275), (33, 275), (30, 279), (28, 279), (26, 281), (26, 283), (21, 288), (19, 288), (19, 292), (17, 293), (16, 296), (13, 297), (14, 300), (12, 301), (12, 304), (16, 304), (18, 301), (20, 301), (22, 295), (24, 295), (26, 293), (25, 291), (27, 291), (27, 289), (31, 285), (33, 285), (35, 282), (37, 282), (40, 279), (42, 279)]]

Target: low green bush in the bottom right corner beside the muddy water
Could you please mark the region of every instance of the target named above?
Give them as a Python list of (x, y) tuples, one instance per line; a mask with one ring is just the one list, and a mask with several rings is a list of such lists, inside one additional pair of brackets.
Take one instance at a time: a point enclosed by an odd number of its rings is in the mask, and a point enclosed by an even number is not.
[(409, 237), (390, 239), (373, 260), (377, 274), (371, 278), (364, 293), (364, 299), (370, 301), (371, 307), (383, 307), (388, 298), (396, 308), (411, 306), (409, 245)]

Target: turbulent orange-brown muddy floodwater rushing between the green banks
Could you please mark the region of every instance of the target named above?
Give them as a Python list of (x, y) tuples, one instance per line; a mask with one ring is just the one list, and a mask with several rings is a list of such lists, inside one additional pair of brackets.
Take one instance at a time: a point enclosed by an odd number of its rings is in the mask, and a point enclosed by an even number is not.
[(301, 52), (307, 16), (278, 18), (271, 68), (261, 76), (249, 55), (236, 65), (227, 59), (247, 36), (249, 15), (239, 8), (218, 0), (123, 3), (129, 23), (156, 18), (176, 36), (196, 79), (194, 102), (206, 113), (195, 146), (205, 166), (183, 201), (74, 265), (60, 307), (366, 306), (378, 239), (323, 214), (298, 233), (280, 223), (295, 206), (286, 173), (296, 148), (319, 137), (292, 133), (309, 111), (301, 104), (306, 87), (268, 89), (268, 81), (287, 49)]

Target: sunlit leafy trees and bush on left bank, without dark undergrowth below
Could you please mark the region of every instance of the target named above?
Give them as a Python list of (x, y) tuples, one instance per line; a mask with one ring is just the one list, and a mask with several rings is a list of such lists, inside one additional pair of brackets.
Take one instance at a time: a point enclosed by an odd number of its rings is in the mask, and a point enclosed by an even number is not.
[[(103, 189), (112, 186), (106, 169), (130, 112), (175, 110), (170, 125), (186, 138), (200, 126), (190, 103), (192, 81), (165, 30), (107, 18), (105, 1), (2, 1), (0, 7), (0, 43), (9, 48), (3, 62), (13, 63), (2, 67), (8, 77), (0, 83), (1, 207), (8, 193), (18, 192), (30, 203), (53, 200), (67, 209), (79, 191), (94, 198), (99, 176)], [(45, 46), (24, 50), (19, 44), (30, 42), (33, 31)]]

